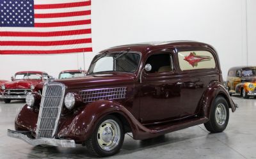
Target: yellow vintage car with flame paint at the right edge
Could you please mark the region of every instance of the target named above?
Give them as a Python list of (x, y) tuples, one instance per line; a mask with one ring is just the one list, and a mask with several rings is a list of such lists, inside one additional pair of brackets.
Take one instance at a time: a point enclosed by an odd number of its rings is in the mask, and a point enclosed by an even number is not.
[(243, 98), (256, 97), (256, 66), (239, 66), (228, 70), (228, 93)]

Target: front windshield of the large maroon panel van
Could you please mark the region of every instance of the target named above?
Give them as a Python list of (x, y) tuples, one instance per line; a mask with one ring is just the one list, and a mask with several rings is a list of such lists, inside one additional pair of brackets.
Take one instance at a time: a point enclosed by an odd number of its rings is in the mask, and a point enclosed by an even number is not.
[(88, 74), (97, 72), (135, 72), (140, 63), (140, 54), (111, 53), (95, 56)]

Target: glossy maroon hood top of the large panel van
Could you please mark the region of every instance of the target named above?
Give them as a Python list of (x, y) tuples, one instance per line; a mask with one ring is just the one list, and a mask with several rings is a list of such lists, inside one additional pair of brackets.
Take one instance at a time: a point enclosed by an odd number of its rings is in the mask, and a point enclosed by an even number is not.
[(113, 86), (116, 84), (125, 84), (133, 82), (135, 79), (132, 73), (102, 73), (95, 75), (87, 75), (74, 79), (60, 79), (54, 80), (67, 86), (67, 89), (81, 89), (84, 87), (100, 87), (100, 86)]

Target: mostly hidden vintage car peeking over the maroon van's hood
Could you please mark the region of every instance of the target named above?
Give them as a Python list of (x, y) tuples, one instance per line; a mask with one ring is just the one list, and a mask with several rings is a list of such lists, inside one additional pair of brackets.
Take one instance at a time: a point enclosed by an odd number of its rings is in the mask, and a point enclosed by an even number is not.
[(65, 70), (60, 72), (58, 79), (70, 79), (75, 77), (84, 77), (86, 75), (85, 70)]

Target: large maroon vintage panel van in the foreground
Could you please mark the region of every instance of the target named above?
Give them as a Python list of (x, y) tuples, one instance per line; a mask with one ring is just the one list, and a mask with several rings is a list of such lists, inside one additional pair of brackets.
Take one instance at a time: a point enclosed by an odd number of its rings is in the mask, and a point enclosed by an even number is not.
[(237, 105), (222, 82), (218, 55), (206, 43), (113, 47), (94, 57), (86, 77), (48, 80), (42, 96), (29, 93), (8, 135), (109, 156), (127, 132), (143, 140), (203, 123), (223, 132)]

